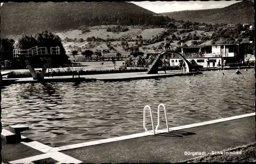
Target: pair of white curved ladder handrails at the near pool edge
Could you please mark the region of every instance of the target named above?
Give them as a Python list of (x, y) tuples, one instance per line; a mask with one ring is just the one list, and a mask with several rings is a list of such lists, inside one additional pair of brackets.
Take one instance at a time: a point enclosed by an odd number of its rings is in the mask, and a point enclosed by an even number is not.
[(164, 109), (164, 115), (165, 115), (165, 121), (166, 121), (166, 127), (167, 127), (167, 132), (169, 132), (169, 127), (168, 127), (168, 120), (167, 120), (167, 114), (166, 114), (166, 110), (165, 110), (165, 106), (164, 104), (159, 104), (158, 105), (158, 109), (157, 109), (157, 126), (156, 126), (156, 129), (154, 128), (154, 121), (153, 121), (153, 115), (152, 115), (152, 110), (151, 110), (151, 107), (149, 105), (146, 105), (144, 107), (144, 110), (143, 110), (143, 128), (145, 129), (145, 132), (147, 132), (147, 129), (146, 129), (146, 108), (150, 109), (150, 115), (151, 115), (151, 122), (152, 122), (152, 128), (153, 128), (153, 133), (156, 134), (156, 130), (158, 129), (159, 125), (160, 125), (160, 107), (163, 107)]

